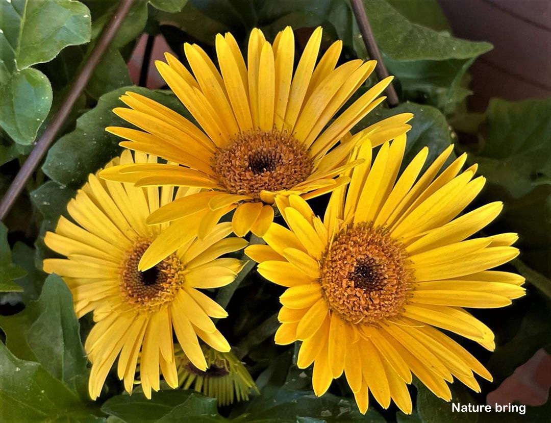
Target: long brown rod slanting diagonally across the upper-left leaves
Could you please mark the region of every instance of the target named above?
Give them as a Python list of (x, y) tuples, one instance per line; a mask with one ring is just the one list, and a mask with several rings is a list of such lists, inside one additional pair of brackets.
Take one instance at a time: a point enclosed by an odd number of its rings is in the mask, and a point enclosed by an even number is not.
[(29, 154), (29, 157), (25, 160), (23, 166), (15, 176), (12, 184), (9, 186), (8, 191), (4, 194), (2, 202), (0, 202), (0, 220), (4, 220), (9, 210), (12, 208), (15, 200), (23, 191), (27, 180), (35, 171), (36, 167), (39, 165), (40, 161), (46, 154), (46, 151), (53, 142), (53, 139), (56, 137), (57, 132), (60, 130), (63, 122), (66, 120), (67, 116), (73, 109), (75, 101), (77, 101), (80, 94), (84, 90), (86, 84), (88, 83), (91, 75), (94, 72), (96, 66), (104, 55), (107, 47), (111, 44), (113, 37), (115, 36), (118, 28), (120, 28), (122, 21), (125, 20), (128, 11), (130, 10), (134, 0), (121, 0), (118, 4), (118, 8), (115, 11), (115, 14), (112, 16), (111, 20), (105, 26), (105, 29), (102, 31), (101, 36), (99, 37), (98, 42), (94, 46), (94, 50), (90, 53), (87, 62), (84, 64), (84, 67), (78, 74), (77, 78), (74, 80), (71, 90), (67, 94), (67, 97), (63, 101), (60, 109), (57, 111), (55, 116), (53, 116), (50, 124), (42, 133), (39, 140), (35, 143), (33, 151)]

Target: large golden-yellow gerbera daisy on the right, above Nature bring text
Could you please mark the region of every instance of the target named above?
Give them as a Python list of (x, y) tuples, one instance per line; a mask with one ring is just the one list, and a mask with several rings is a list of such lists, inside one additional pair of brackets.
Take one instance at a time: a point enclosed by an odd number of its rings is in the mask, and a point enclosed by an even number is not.
[(525, 294), (524, 278), (489, 270), (517, 256), (516, 234), (467, 239), (503, 205), (457, 217), (484, 186), (476, 165), (461, 172), (462, 155), (436, 176), (450, 146), (418, 177), (425, 147), (397, 178), (405, 146), (405, 135), (383, 144), (372, 165), (369, 143), (356, 149), (365, 162), (332, 193), (323, 221), (299, 196), (278, 198), (290, 229), (274, 223), (267, 245), (245, 250), (264, 278), (287, 287), (276, 343), (302, 341), (298, 366), (314, 363), (316, 395), (344, 372), (362, 413), (369, 392), (411, 413), (412, 373), (445, 400), (453, 378), (479, 392), (474, 373), (490, 373), (439, 329), (493, 350), (490, 328), (463, 307), (504, 307)]

